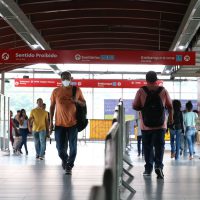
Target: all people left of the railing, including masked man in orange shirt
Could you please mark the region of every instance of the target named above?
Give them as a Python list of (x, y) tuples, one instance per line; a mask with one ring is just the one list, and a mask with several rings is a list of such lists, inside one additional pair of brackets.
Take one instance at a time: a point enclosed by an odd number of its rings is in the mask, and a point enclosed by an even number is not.
[[(10, 141), (13, 152), (22, 154), (22, 147), (28, 155), (27, 136), (32, 134), (35, 143), (36, 159), (44, 160), (46, 150), (46, 138), (55, 131), (56, 148), (62, 161), (62, 167), (66, 174), (72, 173), (77, 154), (77, 105), (86, 105), (82, 91), (79, 87), (70, 84), (71, 73), (61, 73), (62, 86), (55, 88), (50, 98), (50, 112), (45, 108), (42, 98), (37, 99), (37, 107), (31, 110), (30, 116), (25, 109), (17, 111), (13, 117), (10, 111)], [(74, 89), (76, 93), (73, 94)], [(53, 124), (55, 112), (55, 124)]]

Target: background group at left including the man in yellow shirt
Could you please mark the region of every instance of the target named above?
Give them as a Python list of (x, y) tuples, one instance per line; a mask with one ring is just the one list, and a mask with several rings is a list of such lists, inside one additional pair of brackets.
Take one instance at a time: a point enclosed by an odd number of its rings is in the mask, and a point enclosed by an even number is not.
[(30, 117), (27, 116), (25, 109), (17, 110), (15, 116), (10, 111), (10, 141), (14, 154), (23, 154), (24, 146), (25, 154), (28, 155), (27, 137), (33, 135), (36, 157), (43, 160), (46, 138), (49, 137), (49, 113), (45, 109), (46, 104), (39, 98), (37, 107), (31, 111)]

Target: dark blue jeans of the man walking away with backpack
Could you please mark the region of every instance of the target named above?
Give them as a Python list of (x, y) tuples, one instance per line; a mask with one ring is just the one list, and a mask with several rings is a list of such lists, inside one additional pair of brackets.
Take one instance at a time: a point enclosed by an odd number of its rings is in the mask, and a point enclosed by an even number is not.
[(151, 172), (155, 168), (163, 169), (163, 154), (165, 148), (165, 129), (142, 130), (145, 170)]

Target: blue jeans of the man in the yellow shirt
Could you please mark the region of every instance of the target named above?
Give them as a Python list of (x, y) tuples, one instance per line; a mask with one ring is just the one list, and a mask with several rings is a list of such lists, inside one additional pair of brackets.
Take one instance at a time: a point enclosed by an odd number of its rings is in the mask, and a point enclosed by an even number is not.
[(44, 157), (46, 149), (46, 131), (33, 131), (36, 156)]

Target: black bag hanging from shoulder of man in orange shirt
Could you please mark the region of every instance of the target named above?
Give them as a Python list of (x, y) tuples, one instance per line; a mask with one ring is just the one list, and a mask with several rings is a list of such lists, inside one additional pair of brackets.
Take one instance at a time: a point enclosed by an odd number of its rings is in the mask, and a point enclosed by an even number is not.
[[(75, 99), (76, 97), (76, 86), (72, 86), (72, 97)], [(80, 104), (76, 104), (76, 120), (77, 120), (77, 129), (78, 132), (82, 131), (88, 125), (87, 119), (87, 106), (82, 106)]]

